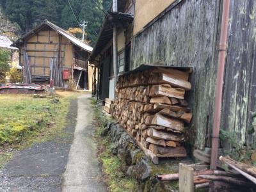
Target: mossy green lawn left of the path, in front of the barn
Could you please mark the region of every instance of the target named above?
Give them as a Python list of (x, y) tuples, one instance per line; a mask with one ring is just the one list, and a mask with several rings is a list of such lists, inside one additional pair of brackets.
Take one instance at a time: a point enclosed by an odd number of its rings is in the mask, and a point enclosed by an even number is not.
[(33, 143), (65, 136), (63, 127), (70, 99), (77, 92), (57, 92), (58, 103), (52, 98), (33, 95), (0, 95), (0, 168), (12, 158), (10, 148), (25, 148)]

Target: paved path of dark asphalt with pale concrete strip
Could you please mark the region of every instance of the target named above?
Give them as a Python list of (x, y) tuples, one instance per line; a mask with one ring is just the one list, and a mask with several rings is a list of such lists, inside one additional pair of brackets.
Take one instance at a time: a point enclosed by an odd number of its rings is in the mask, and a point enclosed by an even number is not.
[[(19, 150), (0, 170), (0, 191), (107, 191), (93, 141), (90, 95), (71, 101), (65, 136)], [(74, 139), (74, 140), (73, 140)]]

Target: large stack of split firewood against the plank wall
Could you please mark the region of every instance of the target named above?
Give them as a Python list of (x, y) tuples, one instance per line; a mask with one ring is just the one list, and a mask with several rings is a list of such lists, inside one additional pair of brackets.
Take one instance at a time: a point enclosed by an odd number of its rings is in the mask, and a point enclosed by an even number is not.
[(186, 123), (191, 122), (184, 100), (189, 72), (154, 68), (119, 78), (113, 116), (140, 144), (157, 157), (185, 157)]

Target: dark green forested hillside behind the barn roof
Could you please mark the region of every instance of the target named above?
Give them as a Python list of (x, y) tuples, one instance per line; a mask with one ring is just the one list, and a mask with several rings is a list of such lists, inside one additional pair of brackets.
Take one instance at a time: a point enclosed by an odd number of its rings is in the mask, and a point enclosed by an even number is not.
[(77, 28), (81, 20), (86, 20), (87, 38), (93, 45), (111, 0), (0, 0), (0, 4), (4, 15), (19, 25), (20, 35), (44, 19), (63, 29)]

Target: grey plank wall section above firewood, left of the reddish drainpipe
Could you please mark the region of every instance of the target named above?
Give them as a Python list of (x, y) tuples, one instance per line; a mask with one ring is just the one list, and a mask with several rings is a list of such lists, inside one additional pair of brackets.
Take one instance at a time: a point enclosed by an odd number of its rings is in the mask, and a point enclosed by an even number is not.
[(201, 149), (211, 126), (219, 5), (218, 0), (183, 0), (132, 40), (131, 69), (157, 63), (193, 67), (187, 95), (194, 116), (190, 135), (195, 136), (191, 144)]

